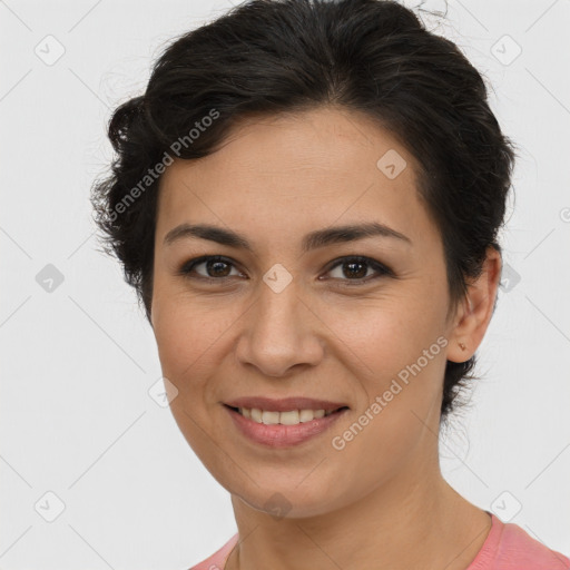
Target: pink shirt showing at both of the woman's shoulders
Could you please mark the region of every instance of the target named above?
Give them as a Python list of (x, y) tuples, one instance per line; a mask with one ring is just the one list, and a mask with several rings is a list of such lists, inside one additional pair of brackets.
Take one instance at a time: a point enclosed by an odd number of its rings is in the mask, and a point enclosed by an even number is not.
[[(491, 531), (465, 570), (570, 570), (570, 559), (550, 550), (519, 525), (503, 523), (490, 514)], [(217, 552), (190, 570), (224, 570), (237, 539), (234, 534)]]

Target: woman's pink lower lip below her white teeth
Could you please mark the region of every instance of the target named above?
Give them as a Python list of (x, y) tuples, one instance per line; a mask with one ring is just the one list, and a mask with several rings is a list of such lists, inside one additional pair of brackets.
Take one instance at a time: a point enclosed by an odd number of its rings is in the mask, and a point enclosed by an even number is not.
[(239, 412), (232, 410), (225, 404), (224, 407), (228, 411), (237, 429), (246, 438), (249, 438), (256, 443), (269, 445), (271, 448), (289, 448), (292, 445), (298, 445), (299, 443), (325, 432), (341, 416), (343, 416), (345, 412), (348, 412), (348, 409), (344, 409), (340, 412), (325, 415), (324, 417), (315, 417), (309, 422), (303, 422), (296, 425), (266, 425), (243, 416)]

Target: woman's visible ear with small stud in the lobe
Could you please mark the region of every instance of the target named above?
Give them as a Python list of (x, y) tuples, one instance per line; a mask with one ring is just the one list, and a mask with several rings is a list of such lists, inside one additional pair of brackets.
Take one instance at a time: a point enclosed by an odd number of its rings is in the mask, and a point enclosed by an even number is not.
[(468, 293), (458, 307), (449, 335), (449, 361), (468, 361), (481, 344), (493, 315), (501, 268), (501, 253), (490, 246), (481, 275), (468, 285)]

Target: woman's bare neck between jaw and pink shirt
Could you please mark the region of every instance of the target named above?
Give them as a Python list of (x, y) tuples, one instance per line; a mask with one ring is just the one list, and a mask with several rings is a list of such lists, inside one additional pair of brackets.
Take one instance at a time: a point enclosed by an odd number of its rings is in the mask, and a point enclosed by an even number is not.
[(276, 520), (232, 495), (243, 540), (225, 570), (465, 570), (491, 518), (459, 495), (439, 466), (429, 472), (399, 475), (348, 505), (301, 519)]

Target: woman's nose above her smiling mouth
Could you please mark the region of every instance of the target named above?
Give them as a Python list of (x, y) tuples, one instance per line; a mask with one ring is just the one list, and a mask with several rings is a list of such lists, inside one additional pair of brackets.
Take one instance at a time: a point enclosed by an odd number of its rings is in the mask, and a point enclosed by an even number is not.
[(261, 283), (258, 297), (242, 320), (237, 360), (264, 376), (316, 366), (324, 354), (323, 322), (302, 298), (295, 281), (276, 293)]

